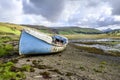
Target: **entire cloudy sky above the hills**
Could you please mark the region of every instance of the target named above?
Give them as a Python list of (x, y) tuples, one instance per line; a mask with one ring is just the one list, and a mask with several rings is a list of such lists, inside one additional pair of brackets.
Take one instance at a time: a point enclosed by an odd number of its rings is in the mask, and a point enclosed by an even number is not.
[(0, 0), (0, 22), (117, 29), (119, 3), (120, 0)]

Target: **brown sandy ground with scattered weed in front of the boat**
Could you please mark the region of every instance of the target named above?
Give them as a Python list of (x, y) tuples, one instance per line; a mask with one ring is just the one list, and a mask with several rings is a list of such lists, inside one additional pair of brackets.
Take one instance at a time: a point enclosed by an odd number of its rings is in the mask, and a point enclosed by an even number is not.
[[(34, 72), (25, 72), (25, 80), (120, 80), (120, 57), (88, 53), (71, 43), (61, 53), (16, 58), (19, 58), (17, 67), (34, 66)], [(44, 68), (38, 68), (34, 63)]]

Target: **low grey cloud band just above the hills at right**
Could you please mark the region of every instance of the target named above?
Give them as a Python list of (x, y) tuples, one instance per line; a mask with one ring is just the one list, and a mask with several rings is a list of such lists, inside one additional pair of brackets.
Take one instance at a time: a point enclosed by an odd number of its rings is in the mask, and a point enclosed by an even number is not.
[[(104, 20), (101, 21), (101, 18), (104, 18)], [(102, 26), (120, 24), (120, 21), (115, 21), (114, 17), (112, 16), (100, 16), (98, 19), (86, 18), (86, 21), (84, 21), (82, 17), (77, 19), (71, 18), (68, 23), (72, 23), (72, 25), (89, 26), (92, 28), (97, 28)]]

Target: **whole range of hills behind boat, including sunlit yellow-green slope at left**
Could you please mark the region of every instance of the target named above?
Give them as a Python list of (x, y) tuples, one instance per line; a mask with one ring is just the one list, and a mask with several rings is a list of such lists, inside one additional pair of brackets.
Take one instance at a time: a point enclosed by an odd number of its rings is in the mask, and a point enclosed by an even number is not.
[(35, 28), (44, 33), (50, 34), (100, 34), (101, 31), (93, 28), (80, 28), (80, 27), (46, 27), (41, 25), (18, 25), (11, 23), (0, 22), (0, 34), (14, 34), (20, 35), (24, 27)]

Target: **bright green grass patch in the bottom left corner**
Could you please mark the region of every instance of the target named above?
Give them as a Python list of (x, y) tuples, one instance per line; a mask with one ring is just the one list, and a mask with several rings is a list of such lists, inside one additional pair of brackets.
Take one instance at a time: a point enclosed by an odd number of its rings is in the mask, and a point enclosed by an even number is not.
[(25, 74), (21, 71), (13, 70), (14, 63), (0, 63), (0, 80), (23, 80), (26, 78)]

